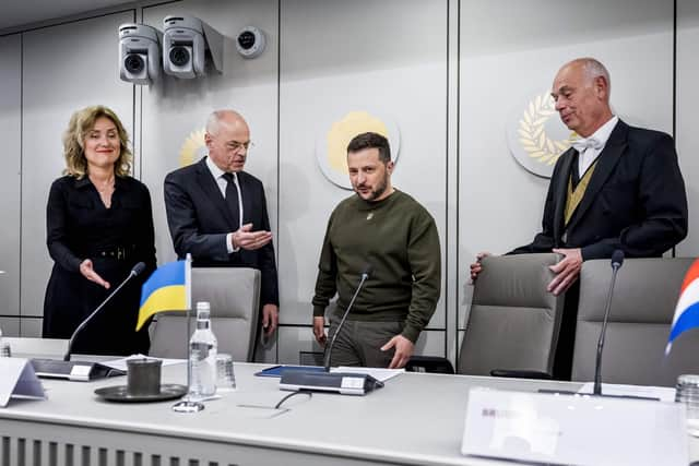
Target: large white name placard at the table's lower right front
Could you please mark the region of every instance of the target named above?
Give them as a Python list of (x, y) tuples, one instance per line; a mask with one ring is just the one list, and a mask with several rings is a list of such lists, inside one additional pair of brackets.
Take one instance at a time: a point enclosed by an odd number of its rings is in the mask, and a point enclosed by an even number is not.
[(685, 406), (472, 389), (461, 453), (535, 463), (686, 466)]

